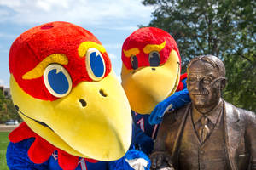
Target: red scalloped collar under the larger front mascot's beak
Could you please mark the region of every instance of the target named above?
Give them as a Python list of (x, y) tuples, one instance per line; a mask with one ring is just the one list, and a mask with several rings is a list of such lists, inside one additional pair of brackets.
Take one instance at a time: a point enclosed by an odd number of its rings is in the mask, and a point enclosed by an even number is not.
[[(33, 163), (44, 163), (44, 161), (47, 161), (54, 151), (57, 150), (58, 163), (63, 170), (75, 169), (78, 166), (78, 156), (72, 156), (64, 150), (49, 144), (49, 142), (38, 136), (38, 134), (32, 132), (25, 122), (22, 122), (12, 133), (9, 133), (9, 140), (13, 143), (18, 143), (24, 139), (30, 138), (34, 138), (35, 140), (27, 151), (27, 155)], [(86, 158), (85, 161), (89, 161), (91, 163), (98, 162), (96, 160)]]

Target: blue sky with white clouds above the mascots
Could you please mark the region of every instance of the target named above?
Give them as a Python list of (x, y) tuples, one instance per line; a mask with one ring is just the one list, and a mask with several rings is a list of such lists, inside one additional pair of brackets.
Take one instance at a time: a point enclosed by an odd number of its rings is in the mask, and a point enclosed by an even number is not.
[(122, 43), (137, 25), (148, 25), (152, 11), (140, 0), (0, 0), (0, 85), (9, 87), (9, 48), (15, 38), (56, 20), (91, 31), (107, 49), (119, 77)]

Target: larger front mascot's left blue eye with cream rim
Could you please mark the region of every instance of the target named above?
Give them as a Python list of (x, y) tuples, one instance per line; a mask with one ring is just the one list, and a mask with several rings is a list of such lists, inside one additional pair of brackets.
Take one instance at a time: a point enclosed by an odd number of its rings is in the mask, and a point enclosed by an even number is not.
[(72, 88), (71, 77), (67, 70), (57, 64), (46, 67), (44, 71), (44, 84), (49, 93), (58, 98), (69, 94)]

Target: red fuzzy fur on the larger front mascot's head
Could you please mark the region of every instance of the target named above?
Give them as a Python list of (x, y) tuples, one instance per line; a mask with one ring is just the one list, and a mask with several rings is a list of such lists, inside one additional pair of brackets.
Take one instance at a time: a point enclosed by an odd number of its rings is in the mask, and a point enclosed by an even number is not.
[[(71, 76), (73, 88), (79, 82), (93, 81), (86, 71), (85, 57), (79, 57), (78, 53), (81, 42), (88, 41), (102, 44), (90, 31), (67, 22), (51, 22), (33, 27), (22, 33), (12, 44), (9, 71), (27, 94), (37, 99), (55, 100), (57, 98), (44, 86), (43, 76), (31, 80), (24, 80), (22, 76), (50, 54), (65, 54), (68, 64), (63, 66)], [(107, 77), (111, 63), (107, 53), (103, 53), (102, 57), (106, 65), (104, 77)]]

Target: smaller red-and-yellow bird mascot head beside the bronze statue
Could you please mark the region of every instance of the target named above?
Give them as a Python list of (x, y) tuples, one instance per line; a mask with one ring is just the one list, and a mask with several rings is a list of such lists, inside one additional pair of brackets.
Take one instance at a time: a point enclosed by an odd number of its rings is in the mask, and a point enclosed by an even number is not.
[(133, 111), (149, 114), (176, 91), (181, 59), (166, 31), (154, 27), (134, 31), (125, 39), (122, 61), (122, 85)]

